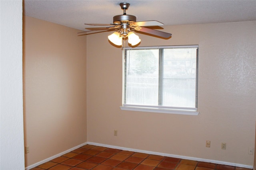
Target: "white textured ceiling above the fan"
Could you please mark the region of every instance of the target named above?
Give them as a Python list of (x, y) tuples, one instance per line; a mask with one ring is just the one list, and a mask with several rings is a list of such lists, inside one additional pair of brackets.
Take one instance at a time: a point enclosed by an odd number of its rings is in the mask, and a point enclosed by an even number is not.
[(24, 0), (24, 14), (85, 31), (84, 23), (113, 23), (120, 2), (137, 21), (164, 25), (256, 20), (256, 0)]

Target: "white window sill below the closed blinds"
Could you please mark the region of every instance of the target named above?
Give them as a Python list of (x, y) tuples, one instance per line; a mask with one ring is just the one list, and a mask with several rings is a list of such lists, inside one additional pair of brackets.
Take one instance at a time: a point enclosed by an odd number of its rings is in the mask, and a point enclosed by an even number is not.
[(147, 108), (147, 107), (120, 106), (120, 108), (121, 110), (129, 110), (129, 111), (145, 111), (145, 112), (169, 113), (169, 114), (178, 114), (178, 115), (198, 115), (199, 113), (199, 111), (158, 109), (158, 108)]

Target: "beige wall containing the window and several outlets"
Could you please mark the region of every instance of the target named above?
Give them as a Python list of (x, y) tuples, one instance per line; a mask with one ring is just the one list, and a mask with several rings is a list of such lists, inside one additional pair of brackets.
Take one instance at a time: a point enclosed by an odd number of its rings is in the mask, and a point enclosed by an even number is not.
[(172, 38), (138, 33), (140, 46), (199, 45), (199, 115), (120, 110), (122, 49), (108, 42), (112, 32), (92, 34), (87, 37), (88, 142), (252, 166), (256, 22), (165, 26), (163, 31)]

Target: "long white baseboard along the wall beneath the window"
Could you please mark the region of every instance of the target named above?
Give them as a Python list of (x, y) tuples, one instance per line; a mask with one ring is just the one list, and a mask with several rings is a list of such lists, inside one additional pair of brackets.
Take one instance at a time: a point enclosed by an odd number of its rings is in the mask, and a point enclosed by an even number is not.
[(214, 163), (214, 164), (236, 166), (236, 167), (241, 167), (241, 168), (249, 168), (249, 169), (253, 168), (253, 166), (250, 166), (250, 165), (236, 164), (236, 163), (232, 163), (232, 162), (224, 162), (224, 161), (219, 161), (219, 160), (194, 158), (194, 157), (190, 157), (190, 156), (180, 156), (180, 155), (175, 155), (175, 154), (166, 154), (166, 153), (161, 153), (161, 152), (152, 152), (152, 151), (147, 151), (147, 150), (139, 150), (139, 149), (131, 149), (131, 148), (125, 148), (125, 147), (117, 147), (117, 146), (113, 146), (113, 145), (105, 145), (105, 144), (94, 143), (94, 142), (87, 142), (87, 144), (88, 145), (96, 145), (96, 146), (99, 146), (99, 147), (107, 147), (107, 148), (120, 149), (120, 150), (128, 150), (128, 151), (132, 151), (132, 152), (140, 152), (140, 153), (146, 153), (146, 154), (168, 156), (168, 157), (172, 157), (172, 158), (181, 158), (181, 159), (188, 159), (188, 160), (196, 160), (196, 161), (200, 161), (200, 162), (210, 162), (210, 163)]

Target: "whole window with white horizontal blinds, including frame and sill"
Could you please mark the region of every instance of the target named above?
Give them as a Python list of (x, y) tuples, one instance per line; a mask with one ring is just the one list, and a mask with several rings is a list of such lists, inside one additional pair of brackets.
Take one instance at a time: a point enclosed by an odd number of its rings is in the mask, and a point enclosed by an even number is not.
[(122, 110), (198, 115), (198, 45), (123, 50)]

